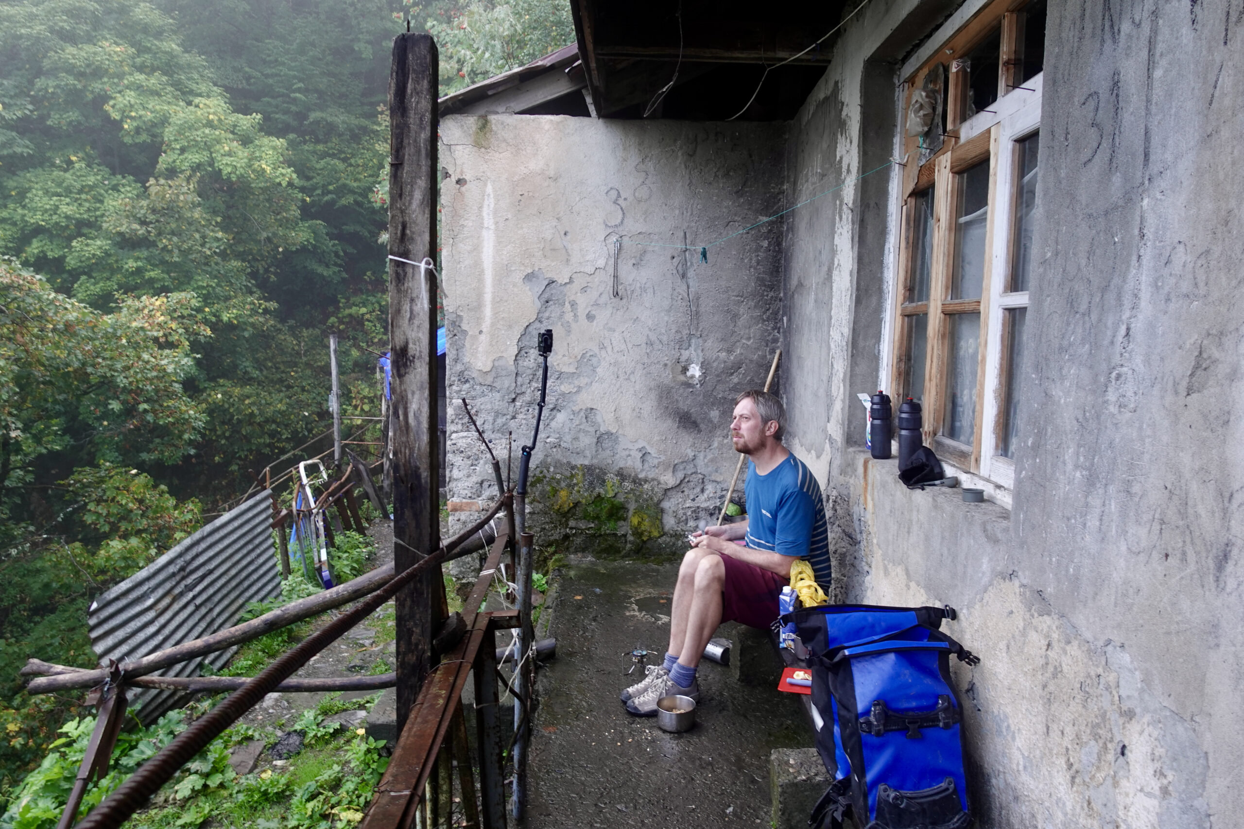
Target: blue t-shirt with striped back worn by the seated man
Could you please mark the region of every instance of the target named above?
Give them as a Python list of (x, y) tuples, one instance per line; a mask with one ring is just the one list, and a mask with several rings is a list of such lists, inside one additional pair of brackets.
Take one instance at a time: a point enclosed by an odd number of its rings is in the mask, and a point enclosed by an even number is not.
[(748, 461), (743, 485), (748, 498), (748, 547), (807, 559), (822, 589), (830, 587), (830, 527), (821, 487), (794, 455), (768, 475)]

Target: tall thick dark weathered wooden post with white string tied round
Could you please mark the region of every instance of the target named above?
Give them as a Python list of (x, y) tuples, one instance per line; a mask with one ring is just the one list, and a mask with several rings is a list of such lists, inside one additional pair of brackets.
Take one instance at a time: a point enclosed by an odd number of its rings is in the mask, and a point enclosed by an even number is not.
[[(393, 400), (393, 566), (413, 567), (440, 544), (437, 451), (437, 45), (393, 40), (389, 73), (389, 359)], [(393, 259), (397, 257), (397, 259)], [(417, 262), (412, 265), (411, 262)], [(432, 667), (440, 625), (440, 569), (397, 594), (397, 727)]]

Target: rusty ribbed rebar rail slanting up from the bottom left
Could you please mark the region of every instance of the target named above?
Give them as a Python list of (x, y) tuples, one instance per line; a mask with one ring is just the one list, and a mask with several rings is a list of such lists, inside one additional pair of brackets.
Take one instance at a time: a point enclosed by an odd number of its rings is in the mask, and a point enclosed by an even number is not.
[[(325, 628), (269, 665), (259, 676), (249, 680), (246, 685), (229, 695), (224, 702), (195, 721), (194, 725), (174, 737), (154, 757), (143, 763), (116, 792), (109, 794), (107, 799), (83, 818), (82, 823), (78, 824), (80, 829), (114, 829), (128, 820), (164, 783), (170, 781), (208, 743), (219, 737), (225, 728), (255, 707), (265, 695), (289, 679), (291, 674), (306, 665), (311, 656), (331, 645), (347, 630), (374, 613), (415, 577), (432, 567), (439, 567), (457, 546), (465, 542), (479, 529), (483, 529), (484, 524), (493, 520), (501, 506), (509, 506), (511, 497), (511, 493), (506, 492), (491, 510), (491, 513), (485, 520), (478, 522), (478, 527), (471, 527), (469, 531), (455, 536), (442, 546), (440, 549), (396, 575), (388, 584), (362, 602), (357, 608), (328, 623)], [(124, 681), (123, 677), (122, 681)]]

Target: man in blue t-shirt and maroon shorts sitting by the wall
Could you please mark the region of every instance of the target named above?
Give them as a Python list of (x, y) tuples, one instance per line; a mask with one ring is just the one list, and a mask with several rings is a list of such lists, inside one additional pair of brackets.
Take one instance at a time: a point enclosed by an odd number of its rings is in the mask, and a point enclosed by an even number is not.
[(807, 466), (781, 445), (786, 411), (768, 392), (744, 392), (734, 405), (730, 439), (748, 456), (748, 518), (694, 533), (683, 556), (671, 607), (669, 650), (642, 682), (622, 691), (626, 710), (657, 713), (672, 694), (699, 698), (695, 667), (723, 621), (768, 629), (790, 566), (804, 558), (816, 582), (830, 585), (830, 537), (821, 487)]

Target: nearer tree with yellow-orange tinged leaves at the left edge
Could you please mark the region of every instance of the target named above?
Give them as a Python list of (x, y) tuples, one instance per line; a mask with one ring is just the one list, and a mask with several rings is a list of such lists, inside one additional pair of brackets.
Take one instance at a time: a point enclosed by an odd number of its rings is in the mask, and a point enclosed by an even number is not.
[(86, 466), (190, 450), (203, 415), (182, 380), (188, 337), (207, 331), (194, 306), (189, 295), (129, 297), (98, 313), (0, 260), (0, 518), (50, 455)]

